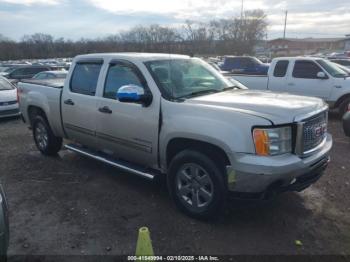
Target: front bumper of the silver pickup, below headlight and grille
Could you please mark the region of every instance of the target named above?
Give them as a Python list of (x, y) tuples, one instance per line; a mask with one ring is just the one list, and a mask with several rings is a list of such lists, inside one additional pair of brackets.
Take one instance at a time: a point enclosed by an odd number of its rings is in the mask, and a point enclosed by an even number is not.
[(261, 157), (236, 153), (227, 167), (228, 187), (237, 193), (264, 194), (268, 191), (301, 191), (316, 182), (329, 162), (332, 136), (323, 147), (306, 158), (294, 154)]

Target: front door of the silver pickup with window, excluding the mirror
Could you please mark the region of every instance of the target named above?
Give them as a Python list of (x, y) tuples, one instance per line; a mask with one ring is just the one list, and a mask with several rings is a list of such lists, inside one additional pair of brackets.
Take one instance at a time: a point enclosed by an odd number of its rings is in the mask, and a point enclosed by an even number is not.
[(147, 107), (120, 102), (117, 92), (125, 85), (148, 89), (145, 78), (134, 64), (113, 61), (97, 101), (96, 136), (99, 147), (122, 160), (147, 166), (156, 164), (159, 101), (153, 101)]

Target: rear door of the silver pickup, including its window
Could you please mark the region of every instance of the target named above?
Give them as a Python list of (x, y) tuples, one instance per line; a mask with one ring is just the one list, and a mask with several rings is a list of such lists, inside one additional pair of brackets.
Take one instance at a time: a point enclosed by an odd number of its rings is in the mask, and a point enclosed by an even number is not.
[(78, 61), (62, 94), (62, 120), (69, 139), (96, 147), (96, 89), (102, 60)]

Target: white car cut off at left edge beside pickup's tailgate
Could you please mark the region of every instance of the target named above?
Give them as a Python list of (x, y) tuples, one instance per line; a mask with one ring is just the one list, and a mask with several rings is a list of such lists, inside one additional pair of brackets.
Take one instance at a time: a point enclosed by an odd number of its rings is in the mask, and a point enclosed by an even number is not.
[(16, 88), (0, 76), (0, 118), (19, 116)]

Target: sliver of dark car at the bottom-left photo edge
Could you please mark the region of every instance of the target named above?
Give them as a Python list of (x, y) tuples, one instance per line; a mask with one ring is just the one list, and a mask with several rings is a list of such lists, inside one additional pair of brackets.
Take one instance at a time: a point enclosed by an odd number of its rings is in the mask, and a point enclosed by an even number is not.
[(0, 261), (6, 261), (9, 239), (8, 204), (5, 192), (0, 184)]

